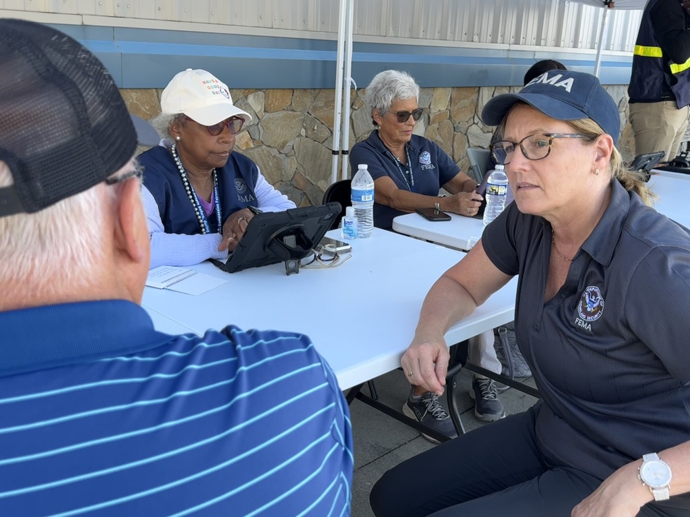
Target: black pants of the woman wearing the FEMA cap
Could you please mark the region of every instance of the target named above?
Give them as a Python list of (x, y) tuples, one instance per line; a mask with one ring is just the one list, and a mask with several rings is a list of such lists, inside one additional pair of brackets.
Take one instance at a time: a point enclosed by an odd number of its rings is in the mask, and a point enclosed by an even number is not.
[[(570, 517), (601, 484), (547, 465), (535, 444), (533, 409), (485, 425), (393, 467), (374, 485), (377, 517)], [(686, 510), (645, 505), (639, 516)]]

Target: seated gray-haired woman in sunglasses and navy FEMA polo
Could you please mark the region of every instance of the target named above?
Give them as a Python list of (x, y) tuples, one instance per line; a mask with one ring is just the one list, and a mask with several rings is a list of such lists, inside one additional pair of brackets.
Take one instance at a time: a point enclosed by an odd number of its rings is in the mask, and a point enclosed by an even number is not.
[[(391, 230), (395, 216), (417, 208), (437, 207), (471, 217), (477, 215), (482, 203), (482, 196), (475, 192), (477, 183), (460, 171), (451, 156), (424, 136), (412, 134), (422, 117), (417, 102), (419, 94), (420, 87), (415, 80), (397, 70), (376, 74), (366, 87), (364, 101), (371, 109), (371, 119), (377, 129), (353, 146), (350, 164), (353, 176), (359, 163), (368, 165), (375, 185), (374, 225), (384, 230)], [(441, 187), (451, 195), (439, 197)], [(493, 332), (485, 334), (473, 338), (469, 359), (500, 374)], [(475, 377), (471, 397), (477, 418), (491, 422), (506, 416), (491, 379)], [(403, 411), (439, 432), (457, 436), (451, 418), (434, 393), (414, 387)]]

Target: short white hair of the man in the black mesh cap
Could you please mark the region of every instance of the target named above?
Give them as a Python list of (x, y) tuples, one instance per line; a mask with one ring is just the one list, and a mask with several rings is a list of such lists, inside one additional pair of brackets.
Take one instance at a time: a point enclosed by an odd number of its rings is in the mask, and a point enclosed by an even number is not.
[[(112, 176), (130, 172), (132, 160)], [(12, 185), (0, 161), (0, 187)], [(46, 296), (67, 287), (89, 285), (111, 250), (103, 249), (103, 226), (117, 199), (118, 185), (98, 183), (40, 212), (0, 217), (0, 285), (23, 282)], [(3, 296), (17, 296), (10, 290)]]

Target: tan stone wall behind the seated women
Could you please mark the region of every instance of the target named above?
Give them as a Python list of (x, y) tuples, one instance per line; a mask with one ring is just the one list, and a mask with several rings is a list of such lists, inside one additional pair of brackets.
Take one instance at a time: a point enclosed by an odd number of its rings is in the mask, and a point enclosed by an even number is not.
[[(422, 88), (424, 116), (415, 133), (438, 143), (460, 165), (469, 168), (466, 149), (487, 148), (492, 128), (480, 122), (484, 103), (497, 94), (517, 88)], [(618, 103), (623, 132), (618, 148), (624, 159), (633, 156), (627, 124), (624, 86), (611, 86)], [(159, 113), (161, 90), (122, 90), (132, 113), (145, 119)], [(249, 156), (267, 181), (298, 206), (320, 204), (331, 183), (334, 90), (231, 90), (235, 104), (252, 116), (237, 135), (235, 150)], [(373, 129), (364, 105), (364, 90), (351, 92), (349, 148)]]

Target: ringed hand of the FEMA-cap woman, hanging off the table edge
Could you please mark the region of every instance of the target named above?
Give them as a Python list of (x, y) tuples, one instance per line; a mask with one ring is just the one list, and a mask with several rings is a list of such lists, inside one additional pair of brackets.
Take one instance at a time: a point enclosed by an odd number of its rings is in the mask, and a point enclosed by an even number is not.
[(423, 387), (427, 392), (442, 395), (450, 358), (451, 355), (443, 336), (436, 338), (415, 336), (412, 344), (400, 359), (400, 365), (408, 383)]

